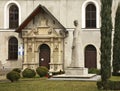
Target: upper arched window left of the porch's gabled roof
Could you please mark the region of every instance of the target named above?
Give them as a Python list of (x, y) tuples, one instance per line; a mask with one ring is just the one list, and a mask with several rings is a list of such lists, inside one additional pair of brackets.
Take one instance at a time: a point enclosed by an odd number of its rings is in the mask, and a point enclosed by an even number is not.
[(19, 24), (19, 9), (17, 5), (11, 5), (9, 8), (9, 28), (17, 28)]

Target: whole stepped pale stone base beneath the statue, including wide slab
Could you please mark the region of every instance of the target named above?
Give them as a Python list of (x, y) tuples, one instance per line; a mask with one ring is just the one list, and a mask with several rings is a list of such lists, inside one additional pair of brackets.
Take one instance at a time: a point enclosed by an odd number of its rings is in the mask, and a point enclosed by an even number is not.
[(100, 76), (96, 74), (88, 74), (87, 68), (68, 67), (65, 74), (55, 75), (50, 80), (82, 80), (82, 81), (98, 81)]

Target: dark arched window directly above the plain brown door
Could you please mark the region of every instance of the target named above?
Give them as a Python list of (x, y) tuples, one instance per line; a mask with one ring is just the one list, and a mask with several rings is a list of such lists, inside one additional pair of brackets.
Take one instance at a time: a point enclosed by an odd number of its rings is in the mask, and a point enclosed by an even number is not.
[(96, 7), (88, 4), (86, 7), (86, 28), (96, 28)]

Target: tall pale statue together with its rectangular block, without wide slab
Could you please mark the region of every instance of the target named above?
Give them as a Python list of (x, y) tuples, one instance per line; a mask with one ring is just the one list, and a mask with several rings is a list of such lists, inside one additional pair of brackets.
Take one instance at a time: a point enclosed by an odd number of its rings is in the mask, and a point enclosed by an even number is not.
[(83, 56), (82, 41), (81, 41), (81, 31), (79, 31), (78, 21), (74, 21), (75, 30), (73, 31), (73, 43), (72, 43), (72, 57), (71, 64), (65, 70), (66, 75), (87, 75), (88, 69), (84, 68), (84, 60), (81, 58)]

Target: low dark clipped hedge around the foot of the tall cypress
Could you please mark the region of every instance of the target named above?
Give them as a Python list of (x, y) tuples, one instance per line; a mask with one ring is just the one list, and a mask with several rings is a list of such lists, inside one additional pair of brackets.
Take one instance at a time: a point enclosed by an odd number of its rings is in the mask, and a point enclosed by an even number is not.
[(98, 89), (103, 90), (120, 90), (120, 81), (107, 81), (107, 82), (98, 81), (97, 87)]

